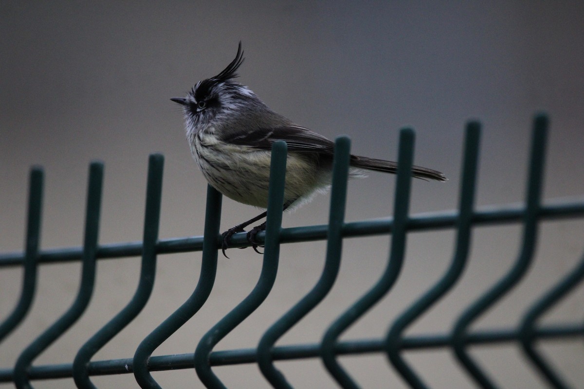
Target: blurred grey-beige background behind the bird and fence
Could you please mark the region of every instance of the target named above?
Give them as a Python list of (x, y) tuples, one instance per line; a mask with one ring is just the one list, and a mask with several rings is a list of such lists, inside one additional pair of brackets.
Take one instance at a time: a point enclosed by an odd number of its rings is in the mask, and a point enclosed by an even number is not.
[[(444, 171), (445, 184), (416, 181), (412, 213), (454, 209), (464, 125), (484, 125), (477, 205), (523, 201), (534, 113), (551, 117), (545, 173), (547, 202), (584, 194), (584, 3), (496, 2), (13, 2), (0, 3), (0, 251), (22, 250), (27, 174), (46, 171), (42, 248), (80, 246), (88, 163), (105, 162), (100, 242), (141, 239), (149, 153), (165, 155), (161, 238), (203, 233), (207, 185), (191, 159), (179, 107), (199, 79), (223, 69), (242, 41), (239, 81), (270, 107), (329, 138), (347, 134), (354, 153), (395, 159), (399, 128), (416, 129), (415, 163)], [(394, 177), (351, 181), (347, 220), (391, 216)], [(224, 199), (222, 229), (255, 216)], [(325, 224), (328, 196), (284, 215), (284, 227)], [(518, 323), (530, 304), (582, 255), (584, 222), (541, 226), (526, 278), (474, 328)], [(382, 337), (392, 318), (435, 282), (450, 262), (451, 230), (412, 233), (392, 293), (343, 339)], [(409, 330), (447, 332), (475, 297), (510, 267), (519, 226), (477, 227), (456, 287)], [(388, 236), (347, 239), (338, 282), (324, 302), (278, 343), (316, 342), (327, 325), (377, 280)], [(255, 347), (273, 323), (312, 288), (324, 262), (322, 242), (287, 244), (266, 302), (216, 350)], [(249, 250), (220, 258), (208, 302), (154, 355), (193, 352), (211, 325), (255, 285), (262, 257)], [(78, 347), (126, 305), (140, 258), (99, 261), (86, 314), (34, 363), (70, 363)], [(200, 253), (160, 255), (150, 302), (94, 360), (130, 358), (142, 338), (192, 293)], [(26, 321), (0, 347), (0, 367), (71, 304), (78, 264), (40, 268)], [(0, 271), (0, 317), (19, 295), (21, 272)], [(545, 323), (582, 320), (582, 288)], [(542, 342), (569, 382), (584, 382), (581, 341)], [(514, 344), (472, 348), (502, 387), (544, 387)], [(449, 350), (407, 352), (436, 388), (474, 387)], [(381, 354), (340, 358), (366, 388), (401, 388)], [(335, 387), (319, 360), (276, 363), (297, 387)], [(268, 387), (254, 365), (217, 367), (228, 387)], [(193, 370), (154, 373), (163, 387), (201, 387)], [(100, 387), (137, 387), (133, 376), (96, 377)], [(72, 380), (42, 381), (72, 388)], [(12, 387), (0, 384), (0, 387)]]

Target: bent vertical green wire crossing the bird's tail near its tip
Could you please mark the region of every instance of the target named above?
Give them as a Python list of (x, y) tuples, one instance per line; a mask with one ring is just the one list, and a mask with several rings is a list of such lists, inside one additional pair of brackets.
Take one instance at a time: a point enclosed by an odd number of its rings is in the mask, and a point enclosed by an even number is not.
[(360, 297), (345, 313), (333, 321), (321, 342), (322, 362), (332, 377), (343, 388), (359, 388), (349, 373), (335, 359), (336, 342), (340, 335), (357, 319), (373, 307), (394, 285), (401, 271), (405, 255), (406, 229), (408, 225), (409, 194), (413, 161), (413, 129), (404, 128), (399, 134), (397, 184), (395, 187), (394, 225), (387, 267), (377, 283)]

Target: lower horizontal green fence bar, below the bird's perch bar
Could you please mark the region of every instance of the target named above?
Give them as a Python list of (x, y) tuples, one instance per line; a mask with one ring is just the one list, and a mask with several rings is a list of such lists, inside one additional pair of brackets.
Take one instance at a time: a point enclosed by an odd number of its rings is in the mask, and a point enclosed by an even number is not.
[[(584, 337), (584, 325), (548, 325), (534, 332), (534, 337), (543, 339), (563, 339)], [(516, 342), (520, 338), (517, 329), (502, 328), (500, 330), (475, 331), (465, 339), (469, 345), (500, 344)], [(417, 350), (430, 348), (450, 347), (450, 334), (410, 335), (405, 337), (399, 346), (403, 350)], [(273, 360), (291, 360), (305, 358), (319, 358), (319, 344), (302, 344), (291, 346), (275, 346), (272, 349)], [(356, 341), (342, 341), (335, 346), (337, 355), (359, 355), (384, 351), (384, 339), (364, 339)], [(241, 365), (256, 363), (256, 349), (236, 349), (214, 351), (210, 355), (211, 366)], [(194, 366), (193, 353), (152, 356), (148, 362), (148, 370), (160, 372), (165, 370), (191, 369)], [(32, 366), (29, 370), (29, 379), (62, 379), (72, 376), (71, 363), (58, 365)], [(90, 376), (105, 376), (109, 374), (127, 374), (132, 372), (132, 358), (100, 360), (89, 363)], [(12, 381), (12, 369), (0, 369), (0, 382)]]

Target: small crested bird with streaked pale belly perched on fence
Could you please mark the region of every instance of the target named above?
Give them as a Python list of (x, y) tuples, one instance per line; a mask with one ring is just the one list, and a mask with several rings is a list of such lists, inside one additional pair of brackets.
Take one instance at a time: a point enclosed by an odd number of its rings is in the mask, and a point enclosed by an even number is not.
[[(267, 208), (272, 143), (286, 141), (288, 156), (283, 209), (310, 201), (331, 184), (334, 143), (272, 111), (247, 86), (234, 82), (244, 62), (241, 41), (235, 59), (218, 75), (201, 80), (186, 97), (171, 100), (183, 106), (190, 152), (208, 183), (223, 195), (244, 204)], [(363, 177), (360, 169), (396, 173), (397, 163), (350, 156), (350, 177)], [(444, 174), (413, 166), (416, 178), (446, 181)], [(266, 212), (223, 233), (223, 255), (230, 237), (244, 232)], [(266, 223), (248, 232), (255, 251), (255, 236)], [(227, 257), (227, 255), (225, 255)]]

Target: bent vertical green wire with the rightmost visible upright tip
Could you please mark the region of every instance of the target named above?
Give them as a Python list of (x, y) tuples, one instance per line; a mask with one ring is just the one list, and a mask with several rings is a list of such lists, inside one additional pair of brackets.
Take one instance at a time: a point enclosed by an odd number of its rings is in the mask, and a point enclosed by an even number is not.
[(523, 239), (520, 253), (513, 267), (491, 289), (479, 297), (465, 310), (454, 324), (452, 346), (456, 358), (470, 374), (472, 379), (483, 388), (496, 388), (466, 351), (467, 328), (481, 314), (509, 292), (523, 277), (533, 260), (537, 240), (537, 222), (541, 207), (541, 187), (545, 159), (545, 141), (547, 138), (548, 119), (540, 114), (534, 120), (533, 138), (529, 164), (529, 181), (527, 185), (526, 208), (523, 216)]

